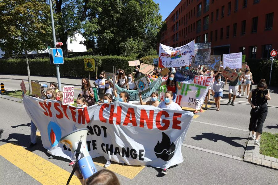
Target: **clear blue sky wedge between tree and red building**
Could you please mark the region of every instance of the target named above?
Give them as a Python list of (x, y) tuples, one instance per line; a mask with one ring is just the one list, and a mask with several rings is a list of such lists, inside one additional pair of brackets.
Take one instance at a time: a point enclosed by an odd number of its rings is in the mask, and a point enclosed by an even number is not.
[(174, 8), (181, 2), (181, 0), (153, 0), (159, 4), (159, 13), (162, 15), (162, 21), (164, 21), (168, 15), (174, 10)]

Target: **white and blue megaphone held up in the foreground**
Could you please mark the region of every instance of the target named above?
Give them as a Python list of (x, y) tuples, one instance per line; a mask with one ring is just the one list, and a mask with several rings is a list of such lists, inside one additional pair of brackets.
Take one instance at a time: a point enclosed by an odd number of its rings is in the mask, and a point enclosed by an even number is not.
[(93, 159), (87, 148), (86, 138), (88, 131), (89, 129), (86, 128), (74, 130), (60, 139), (60, 143), (69, 147), (73, 153), (80, 152), (76, 160), (84, 179), (91, 177), (97, 172)]

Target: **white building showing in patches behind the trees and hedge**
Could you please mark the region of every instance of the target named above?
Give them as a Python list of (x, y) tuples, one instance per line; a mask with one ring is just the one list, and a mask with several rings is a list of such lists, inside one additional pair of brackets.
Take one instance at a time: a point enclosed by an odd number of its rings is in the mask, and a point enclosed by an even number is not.
[[(87, 51), (86, 46), (83, 44), (80, 44), (80, 41), (84, 41), (84, 37), (82, 36), (82, 33), (80, 31), (74, 31), (74, 34), (72, 37), (68, 36), (67, 40), (67, 47), (69, 52), (82, 52), (82, 51)], [(42, 50), (42, 51), (28, 51), (27, 54), (37, 54), (37, 53), (49, 53), (49, 48)], [(4, 51), (1, 50), (0, 48), (0, 58), (2, 58), (3, 54), (5, 54)], [(24, 51), (22, 54), (25, 54)]]

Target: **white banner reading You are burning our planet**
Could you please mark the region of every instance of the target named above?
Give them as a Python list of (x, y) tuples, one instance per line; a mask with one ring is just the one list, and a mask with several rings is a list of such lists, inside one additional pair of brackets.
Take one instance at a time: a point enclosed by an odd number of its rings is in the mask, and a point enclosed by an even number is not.
[(159, 44), (158, 67), (170, 68), (189, 66), (194, 54), (194, 40), (181, 47), (170, 47)]

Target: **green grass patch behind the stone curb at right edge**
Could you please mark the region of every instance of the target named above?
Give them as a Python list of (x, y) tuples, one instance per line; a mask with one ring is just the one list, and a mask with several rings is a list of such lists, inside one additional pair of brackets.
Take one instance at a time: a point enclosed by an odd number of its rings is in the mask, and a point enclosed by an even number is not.
[(278, 158), (278, 133), (263, 132), (260, 142), (260, 154)]

